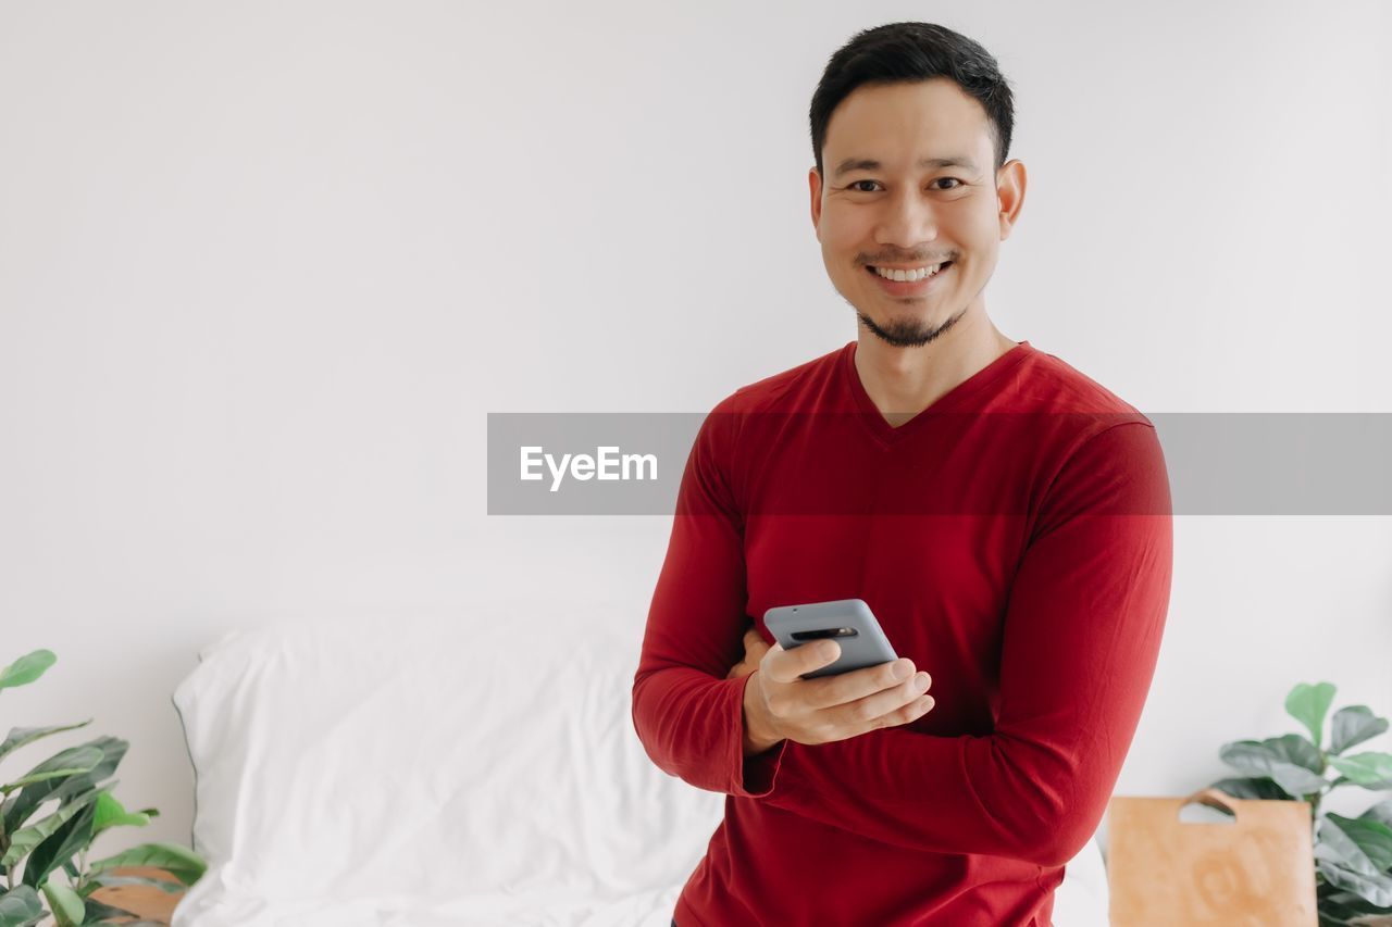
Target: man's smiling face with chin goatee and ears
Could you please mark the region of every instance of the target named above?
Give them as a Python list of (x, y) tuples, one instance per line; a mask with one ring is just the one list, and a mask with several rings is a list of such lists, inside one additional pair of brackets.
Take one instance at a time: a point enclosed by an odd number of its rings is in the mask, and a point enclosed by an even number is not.
[[(916, 347), (983, 310), (1025, 170), (1011, 161), (998, 177), (980, 103), (948, 78), (860, 86), (832, 111), (821, 154), (825, 178), (816, 167), (809, 173), (821, 256), (874, 334)], [(917, 283), (874, 270), (934, 264), (938, 271)]]

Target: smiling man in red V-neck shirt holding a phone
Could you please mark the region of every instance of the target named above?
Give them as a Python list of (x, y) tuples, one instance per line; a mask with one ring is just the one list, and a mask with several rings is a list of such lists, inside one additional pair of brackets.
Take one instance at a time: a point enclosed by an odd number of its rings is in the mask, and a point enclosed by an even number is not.
[[(722, 399), (686, 462), (633, 722), (728, 798), (674, 924), (1047, 927), (1158, 657), (1164, 458), (1134, 408), (986, 315), (1026, 174), (981, 46), (862, 32), (810, 118), (857, 338)], [(837, 646), (770, 646), (764, 612), (853, 597), (899, 660), (802, 679)]]

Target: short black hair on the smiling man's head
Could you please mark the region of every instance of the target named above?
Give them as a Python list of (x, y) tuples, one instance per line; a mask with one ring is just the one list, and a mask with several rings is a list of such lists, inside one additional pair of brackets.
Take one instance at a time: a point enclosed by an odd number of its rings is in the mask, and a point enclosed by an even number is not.
[(995, 142), (995, 167), (1005, 164), (1015, 125), (1015, 102), (999, 65), (980, 43), (933, 22), (889, 22), (857, 32), (827, 61), (812, 95), (812, 152), (823, 173), (821, 146), (831, 114), (862, 85), (917, 84), (945, 77), (986, 110)]

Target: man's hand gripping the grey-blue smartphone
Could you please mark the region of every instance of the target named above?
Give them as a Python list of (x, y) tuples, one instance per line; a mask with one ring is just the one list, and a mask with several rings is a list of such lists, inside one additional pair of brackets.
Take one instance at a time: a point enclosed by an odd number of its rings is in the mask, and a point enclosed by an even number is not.
[[(926, 695), (933, 679), (927, 672), (915, 674), (908, 657), (835, 676), (800, 678), (839, 656), (835, 640), (768, 649), (745, 689), (746, 756), (785, 739), (807, 745), (845, 740), (908, 724), (933, 708), (933, 696)], [(903, 675), (895, 672), (901, 668)]]

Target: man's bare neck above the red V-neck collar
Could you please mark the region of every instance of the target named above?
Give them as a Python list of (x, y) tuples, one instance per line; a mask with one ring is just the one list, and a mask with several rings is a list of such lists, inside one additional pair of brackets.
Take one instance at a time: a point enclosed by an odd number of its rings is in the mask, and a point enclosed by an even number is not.
[(896, 348), (860, 326), (856, 373), (884, 419), (898, 427), (1015, 347), (984, 312), (919, 348)]

